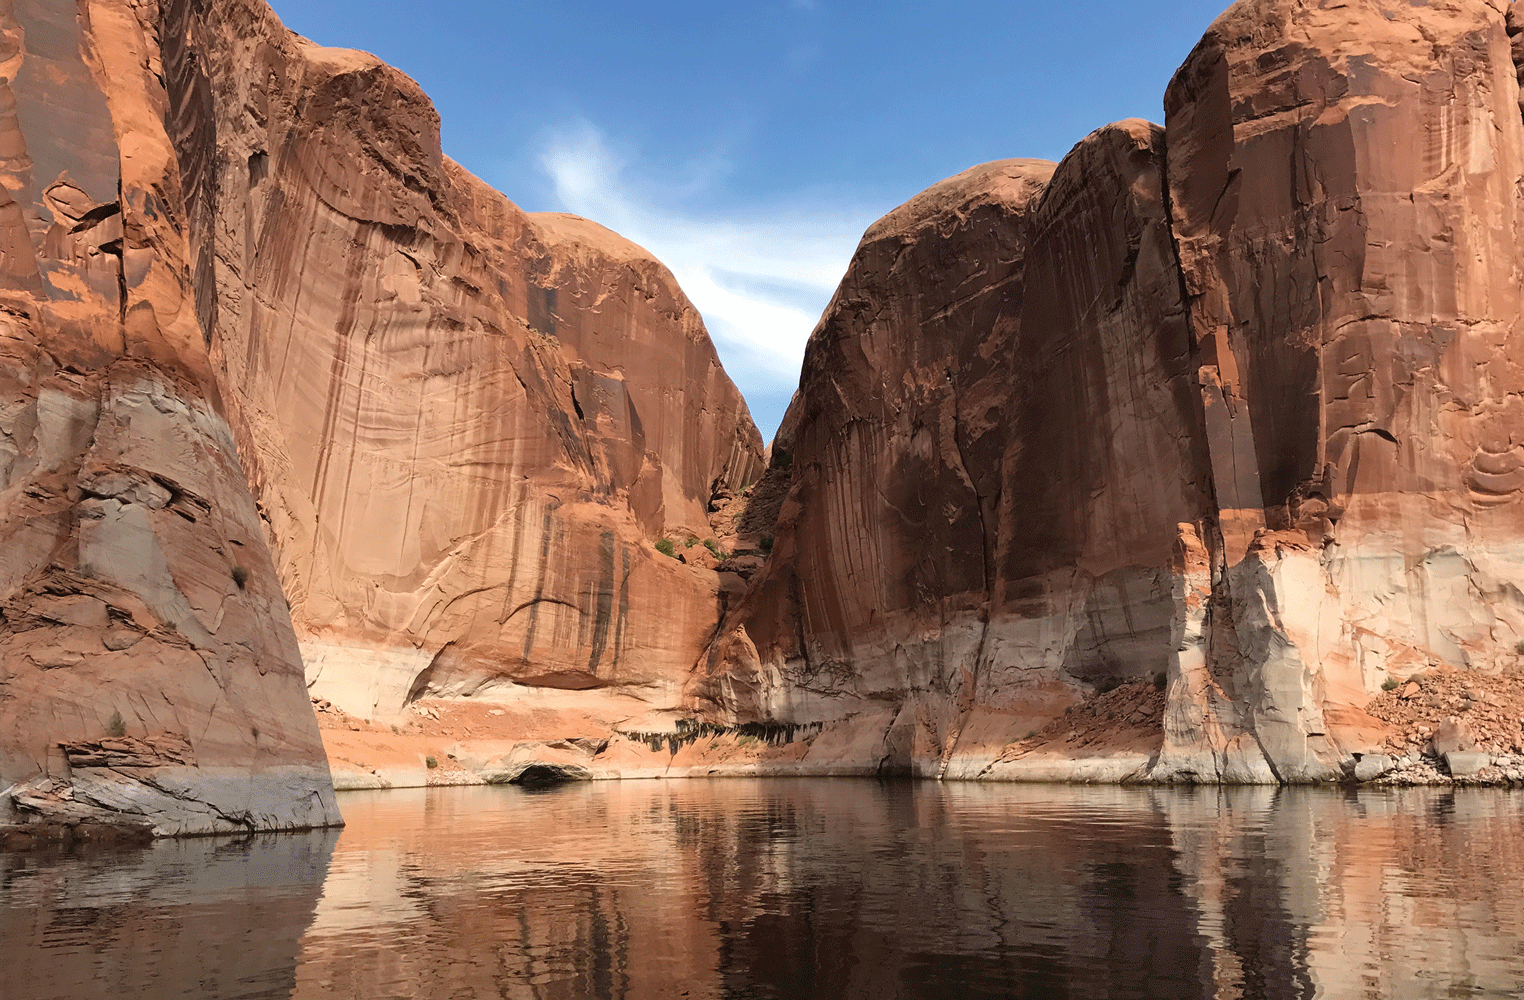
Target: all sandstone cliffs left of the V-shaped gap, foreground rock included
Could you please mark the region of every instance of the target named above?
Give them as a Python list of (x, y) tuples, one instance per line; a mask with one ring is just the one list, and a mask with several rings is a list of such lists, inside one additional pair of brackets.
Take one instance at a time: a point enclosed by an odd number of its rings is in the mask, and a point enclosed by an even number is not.
[(727, 590), (654, 543), (762, 442), (664, 267), (261, 0), (0, 35), (0, 826), (337, 822), (303, 660), (378, 721), (678, 704)]

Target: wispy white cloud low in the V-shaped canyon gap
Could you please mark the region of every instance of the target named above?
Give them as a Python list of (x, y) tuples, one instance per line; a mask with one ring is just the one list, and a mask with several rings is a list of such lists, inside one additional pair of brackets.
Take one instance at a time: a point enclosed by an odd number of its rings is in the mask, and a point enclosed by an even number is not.
[[(686, 207), (701, 183), (666, 189), (634, 181), (604, 136), (581, 123), (546, 148), (541, 165), (567, 212), (639, 242), (666, 264), (704, 316), (725, 370), (748, 401), (783, 398), (799, 380), (805, 341), (835, 291), (863, 230), (890, 206), (774, 204)], [(757, 409), (753, 402), (753, 409)], [(767, 412), (757, 412), (764, 434)]]

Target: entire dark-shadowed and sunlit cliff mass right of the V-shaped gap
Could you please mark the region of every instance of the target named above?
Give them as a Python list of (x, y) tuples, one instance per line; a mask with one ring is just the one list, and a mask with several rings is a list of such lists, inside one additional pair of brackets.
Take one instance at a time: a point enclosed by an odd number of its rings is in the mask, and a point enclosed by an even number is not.
[(696, 709), (1018, 777), (1009, 744), (1157, 677), (1157, 741), (1105, 777), (1309, 782), (1381, 742), (1388, 677), (1512, 663), (1518, 32), (1495, 2), (1388, 8), (1237, 3), (1164, 128), (869, 230)]

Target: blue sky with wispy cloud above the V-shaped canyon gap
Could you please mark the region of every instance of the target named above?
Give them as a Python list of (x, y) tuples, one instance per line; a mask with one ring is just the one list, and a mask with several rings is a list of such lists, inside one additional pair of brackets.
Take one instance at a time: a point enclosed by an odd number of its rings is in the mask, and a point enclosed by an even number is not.
[(273, 0), (418, 79), (445, 152), (657, 255), (770, 439), (863, 230), (975, 163), (1061, 159), (1227, 0)]

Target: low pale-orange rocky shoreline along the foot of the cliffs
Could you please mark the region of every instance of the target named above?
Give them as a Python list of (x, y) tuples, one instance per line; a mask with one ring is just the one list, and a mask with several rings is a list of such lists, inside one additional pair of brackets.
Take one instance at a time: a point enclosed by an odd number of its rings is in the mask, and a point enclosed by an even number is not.
[[(497, 712), (498, 715), (489, 715)], [(325, 718), (326, 716), (326, 718)], [(451, 785), (553, 785), (578, 780), (661, 780), (704, 777), (855, 777), (977, 784), (1064, 784), (1125, 787), (1524, 787), (1524, 753), (1455, 752), (1356, 753), (1341, 779), (1329, 782), (1158, 780), (1149, 773), (1163, 733), (1113, 729), (1065, 755), (1061, 741), (1039, 736), (1006, 747), (988, 744), (948, 759), (913, 753), (890, 765), (882, 755), (881, 720), (806, 727), (774, 741), (738, 732), (622, 733), (582, 720), (576, 732), (552, 736), (570, 720), (529, 724), (503, 706), (431, 701), (402, 726), (370, 724), (319, 709), (320, 730), (337, 791)], [(535, 732), (539, 730), (539, 732)], [(1070, 733), (1073, 736), (1073, 733)], [(931, 747), (917, 750), (931, 750)], [(430, 767), (430, 761), (434, 767)], [(1454, 767), (1455, 773), (1451, 773)]]

